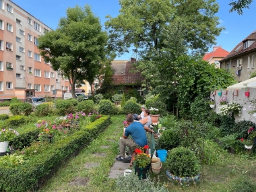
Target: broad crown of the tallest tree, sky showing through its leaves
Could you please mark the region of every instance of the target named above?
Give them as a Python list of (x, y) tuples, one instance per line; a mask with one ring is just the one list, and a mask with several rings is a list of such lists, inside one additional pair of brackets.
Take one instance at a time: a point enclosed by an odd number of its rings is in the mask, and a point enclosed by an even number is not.
[(110, 36), (110, 49), (119, 55), (135, 47), (145, 59), (149, 51), (164, 48), (164, 30), (176, 25), (183, 32), (188, 49), (205, 53), (223, 28), (218, 27), (218, 4), (215, 0), (120, 0), (117, 18), (105, 25)]

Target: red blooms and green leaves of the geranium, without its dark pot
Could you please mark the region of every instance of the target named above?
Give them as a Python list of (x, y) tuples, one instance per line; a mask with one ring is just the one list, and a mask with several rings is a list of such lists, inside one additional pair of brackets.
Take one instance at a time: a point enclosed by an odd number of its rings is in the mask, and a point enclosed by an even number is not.
[(151, 162), (150, 155), (145, 154), (143, 152), (143, 150), (146, 150), (148, 148), (149, 148), (148, 146), (144, 146), (143, 148), (135, 149), (136, 155), (133, 158), (133, 160), (134, 160), (133, 163), (135, 164), (135, 166), (146, 167), (146, 166), (148, 166), (148, 164), (150, 164), (150, 162)]

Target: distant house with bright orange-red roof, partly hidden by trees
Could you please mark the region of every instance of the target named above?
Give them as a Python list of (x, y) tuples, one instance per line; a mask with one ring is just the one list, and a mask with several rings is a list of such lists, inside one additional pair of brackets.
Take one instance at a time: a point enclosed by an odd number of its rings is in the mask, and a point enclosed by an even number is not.
[(209, 63), (215, 63), (217, 68), (220, 68), (219, 61), (228, 55), (228, 51), (222, 49), (221, 46), (214, 46), (214, 49), (210, 53), (206, 53), (203, 56), (203, 60)]

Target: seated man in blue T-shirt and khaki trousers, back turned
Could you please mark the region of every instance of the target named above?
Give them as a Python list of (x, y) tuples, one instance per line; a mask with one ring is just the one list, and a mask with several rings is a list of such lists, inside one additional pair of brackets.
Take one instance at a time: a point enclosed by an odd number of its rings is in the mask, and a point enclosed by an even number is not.
[[(130, 148), (130, 152), (133, 152), (135, 148), (143, 148), (143, 146), (146, 146), (148, 144), (148, 140), (143, 125), (139, 122), (133, 121), (133, 115), (128, 114), (126, 122), (128, 127), (123, 133), (123, 138), (120, 139), (120, 156), (116, 159), (123, 162), (130, 162), (131, 158), (125, 158), (125, 146)], [(131, 135), (131, 139), (127, 139), (129, 135)]]

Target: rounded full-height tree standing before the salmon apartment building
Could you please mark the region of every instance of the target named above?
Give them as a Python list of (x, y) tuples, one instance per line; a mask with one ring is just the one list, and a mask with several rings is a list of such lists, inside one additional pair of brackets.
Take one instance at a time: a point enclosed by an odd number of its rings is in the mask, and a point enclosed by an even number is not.
[(67, 9), (67, 17), (59, 20), (56, 30), (38, 38), (38, 49), (53, 70), (69, 79), (75, 98), (75, 84), (86, 79), (90, 84), (106, 59), (108, 36), (102, 32), (100, 20), (86, 5)]

